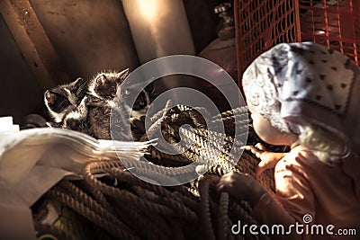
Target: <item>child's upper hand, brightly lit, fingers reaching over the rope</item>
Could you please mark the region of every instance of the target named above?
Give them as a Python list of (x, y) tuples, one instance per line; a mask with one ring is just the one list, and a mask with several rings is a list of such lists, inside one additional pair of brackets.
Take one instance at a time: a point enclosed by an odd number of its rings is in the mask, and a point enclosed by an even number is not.
[(279, 162), (287, 153), (274, 153), (266, 151), (266, 148), (261, 143), (258, 143), (254, 146), (245, 146), (243, 147), (247, 151), (251, 151), (258, 159), (260, 163), (257, 167), (257, 175), (260, 175), (266, 169), (275, 168), (277, 162)]

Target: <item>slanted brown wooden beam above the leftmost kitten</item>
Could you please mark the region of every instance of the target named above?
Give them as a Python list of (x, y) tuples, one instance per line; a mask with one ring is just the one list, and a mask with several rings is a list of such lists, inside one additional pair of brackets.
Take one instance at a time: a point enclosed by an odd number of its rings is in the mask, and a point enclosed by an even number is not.
[(0, 0), (0, 13), (44, 89), (69, 80), (29, 0)]

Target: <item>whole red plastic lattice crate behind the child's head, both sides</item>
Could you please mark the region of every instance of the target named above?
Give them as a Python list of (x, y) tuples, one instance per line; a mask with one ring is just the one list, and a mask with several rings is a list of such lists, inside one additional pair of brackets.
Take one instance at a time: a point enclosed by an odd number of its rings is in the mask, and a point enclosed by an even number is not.
[(238, 79), (262, 52), (277, 43), (313, 41), (359, 64), (357, 0), (235, 0)]

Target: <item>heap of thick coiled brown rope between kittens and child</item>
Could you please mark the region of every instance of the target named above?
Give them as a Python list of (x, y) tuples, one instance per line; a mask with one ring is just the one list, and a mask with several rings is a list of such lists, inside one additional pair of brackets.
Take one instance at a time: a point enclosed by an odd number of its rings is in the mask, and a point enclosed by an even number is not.
[[(206, 129), (206, 122), (200, 112), (202, 109), (191, 109), (176, 106), (171, 111), (162, 111), (154, 116), (155, 123), (149, 132), (155, 134), (155, 127), (161, 127), (163, 136), (171, 143), (178, 142), (182, 136), (193, 141), (189, 149), (182, 155), (170, 156), (160, 153), (161, 158), (172, 159), (180, 164), (197, 161), (198, 156), (215, 159), (209, 173), (221, 176), (226, 171), (226, 161), (234, 165), (238, 159), (228, 159), (232, 148), (239, 148), (245, 143), (234, 142), (235, 124), (237, 134), (246, 134), (249, 128), (246, 108), (221, 113), (212, 117), (212, 121), (222, 121), (225, 134)], [(205, 116), (207, 117), (207, 116)], [(184, 124), (191, 125), (194, 130), (180, 129)], [(157, 126), (155, 126), (157, 125)], [(224, 139), (224, 145), (217, 144), (218, 138)], [(142, 140), (147, 139), (143, 136)], [(211, 143), (213, 141), (213, 143)], [(205, 149), (205, 150), (203, 150)], [(161, 160), (161, 159), (160, 159)], [(202, 163), (206, 165), (207, 163)], [(197, 186), (198, 180), (186, 185), (162, 187), (140, 180), (130, 173), (139, 175), (157, 175), (163, 181), (173, 181), (184, 173), (193, 173), (193, 165), (181, 169), (172, 166), (149, 164), (146, 161), (99, 161), (86, 164), (83, 177), (87, 185), (83, 190), (76, 182), (61, 182), (50, 190), (45, 197), (58, 200), (78, 214), (92, 222), (97, 236), (109, 236), (120, 239), (243, 239), (244, 236), (233, 236), (231, 224), (238, 219), (242, 223), (257, 224), (249, 215), (251, 209), (245, 204), (238, 204), (229, 198), (228, 193), (212, 194), (211, 178), (204, 177)], [(255, 177), (257, 160), (244, 155), (236, 164), (240, 173), (250, 173)], [(271, 173), (262, 174), (257, 181), (269, 190), (273, 190), (274, 182)], [(219, 198), (220, 197), (220, 198)], [(40, 218), (40, 215), (38, 215)], [(201, 226), (203, 231), (200, 231)], [(188, 229), (192, 229), (191, 232)], [(103, 233), (102, 233), (103, 231)], [(268, 239), (266, 236), (258, 236)], [(256, 239), (247, 233), (245, 239)]]

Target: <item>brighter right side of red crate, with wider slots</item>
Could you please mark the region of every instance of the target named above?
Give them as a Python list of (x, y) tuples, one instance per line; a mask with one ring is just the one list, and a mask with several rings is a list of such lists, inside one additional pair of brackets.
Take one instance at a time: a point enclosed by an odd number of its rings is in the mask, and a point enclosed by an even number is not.
[(337, 49), (359, 64), (359, 0), (302, 0), (299, 8), (302, 41)]

